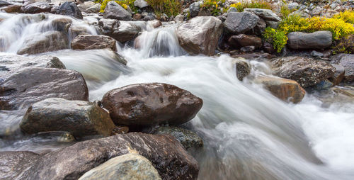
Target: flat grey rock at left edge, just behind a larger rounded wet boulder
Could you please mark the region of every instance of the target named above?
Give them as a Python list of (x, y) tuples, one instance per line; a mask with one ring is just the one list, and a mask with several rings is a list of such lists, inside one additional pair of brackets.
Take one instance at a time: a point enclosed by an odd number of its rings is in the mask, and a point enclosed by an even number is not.
[(64, 64), (57, 58), (49, 55), (38, 57), (23, 57), (19, 55), (0, 55), (0, 77), (8, 72), (16, 71), (23, 67), (52, 67), (65, 69)]

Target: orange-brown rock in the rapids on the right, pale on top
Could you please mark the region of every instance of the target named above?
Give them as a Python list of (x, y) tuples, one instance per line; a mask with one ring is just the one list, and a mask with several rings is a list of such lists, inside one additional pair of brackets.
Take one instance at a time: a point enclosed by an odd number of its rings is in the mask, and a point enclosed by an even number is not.
[(299, 103), (304, 98), (306, 91), (297, 83), (297, 81), (278, 78), (278, 77), (257, 77), (256, 83), (263, 84), (271, 94), (282, 101), (291, 101)]

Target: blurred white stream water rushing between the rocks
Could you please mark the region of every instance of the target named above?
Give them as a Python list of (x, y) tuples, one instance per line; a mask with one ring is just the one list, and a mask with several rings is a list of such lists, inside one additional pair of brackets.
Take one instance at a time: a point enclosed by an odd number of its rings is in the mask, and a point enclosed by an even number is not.
[[(0, 18), (5, 19), (0, 23), (0, 38), (5, 37), (0, 48), (16, 53), (23, 39), (52, 30), (50, 21), (60, 16), (0, 13)], [(72, 21), (97, 33), (85, 21)], [(174, 84), (202, 98), (202, 109), (186, 125), (205, 142), (193, 153), (200, 164), (199, 179), (354, 179), (354, 104), (324, 107), (311, 95), (296, 105), (280, 101), (251, 79), (236, 79), (227, 55), (187, 55), (178, 45), (175, 26), (147, 28), (135, 41), (137, 48), (120, 45), (126, 67), (110, 50), (45, 54), (84, 74), (91, 101), (111, 89), (142, 82)], [(264, 62), (251, 64), (252, 76), (270, 74)], [(23, 137), (16, 131), (23, 113), (0, 111), (0, 131), (15, 131), (0, 142), (0, 150), (38, 152), (67, 145)]]

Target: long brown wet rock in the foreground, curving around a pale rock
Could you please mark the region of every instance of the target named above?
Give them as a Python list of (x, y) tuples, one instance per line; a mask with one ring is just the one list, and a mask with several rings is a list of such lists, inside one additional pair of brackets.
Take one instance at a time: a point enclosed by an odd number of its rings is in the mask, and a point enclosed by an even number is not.
[[(198, 177), (198, 162), (174, 137), (143, 133), (78, 142), (42, 157), (30, 156), (30, 163), (6, 162), (6, 167), (16, 169), (0, 173), (2, 176), (16, 177), (14, 179), (79, 179), (86, 171), (108, 159), (128, 153), (137, 153), (149, 159), (162, 179), (188, 180)], [(17, 154), (21, 152), (0, 152), (0, 157), (11, 159)], [(23, 160), (27, 162), (27, 159)]]

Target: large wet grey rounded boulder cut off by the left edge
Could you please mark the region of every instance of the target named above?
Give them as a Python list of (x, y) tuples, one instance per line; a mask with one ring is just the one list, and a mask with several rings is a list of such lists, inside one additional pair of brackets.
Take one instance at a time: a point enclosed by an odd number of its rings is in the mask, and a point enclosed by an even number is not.
[(25, 67), (0, 81), (0, 109), (25, 108), (48, 98), (89, 100), (84, 77), (68, 69)]

